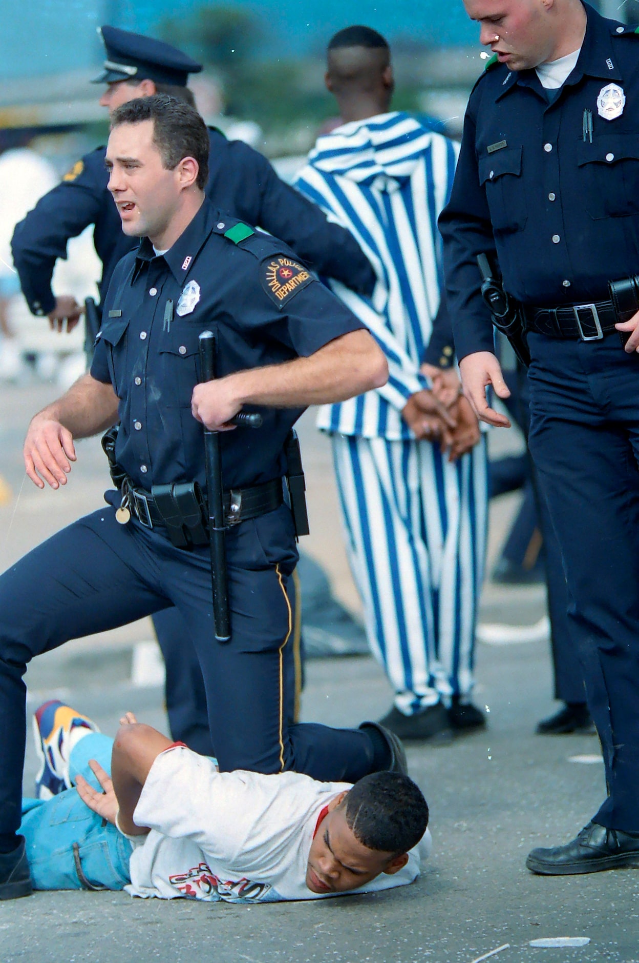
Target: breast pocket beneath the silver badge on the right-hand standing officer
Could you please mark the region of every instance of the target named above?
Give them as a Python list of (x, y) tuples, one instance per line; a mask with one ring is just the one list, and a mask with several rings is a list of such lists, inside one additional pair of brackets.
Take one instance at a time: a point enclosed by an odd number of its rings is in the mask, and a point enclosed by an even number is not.
[(594, 221), (639, 214), (639, 135), (604, 134), (578, 143), (583, 203)]

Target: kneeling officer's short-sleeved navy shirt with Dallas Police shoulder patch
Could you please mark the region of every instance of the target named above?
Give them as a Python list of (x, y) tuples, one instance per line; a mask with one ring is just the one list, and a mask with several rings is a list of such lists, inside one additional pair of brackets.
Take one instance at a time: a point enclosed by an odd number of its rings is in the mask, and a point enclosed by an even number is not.
[[(90, 373), (120, 399), (115, 455), (146, 490), (173, 481), (206, 486), (203, 429), (191, 414), (202, 331), (217, 333), (223, 377), (307, 356), (363, 327), (289, 248), (208, 200), (165, 254), (144, 239), (120, 261), (104, 308)], [(301, 414), (247, 410), (263, 415), (260, 429), (220, 433), (225, 489), (281, 477), (284, 439)]]

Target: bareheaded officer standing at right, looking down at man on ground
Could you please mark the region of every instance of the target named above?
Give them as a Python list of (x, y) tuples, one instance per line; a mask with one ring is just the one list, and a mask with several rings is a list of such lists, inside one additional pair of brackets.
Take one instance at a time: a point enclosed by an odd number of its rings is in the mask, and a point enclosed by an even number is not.
[[(639, 272), (639, 38), (579, 0), (464, 2), (495, 56), (440, 220), (455, 347), (479, 417), (507, 425), (485, 396), (488, 384), (508, 394), (479, 295), (477, 255), (496, 254), (526, 318), (529, 447), (608, 786), (575, 840), (534, 849), (527, 865), (639, 865), (639, 315), (616, 325), (608, 294)], [(626, 350), (620, 331), (634, 332)]]

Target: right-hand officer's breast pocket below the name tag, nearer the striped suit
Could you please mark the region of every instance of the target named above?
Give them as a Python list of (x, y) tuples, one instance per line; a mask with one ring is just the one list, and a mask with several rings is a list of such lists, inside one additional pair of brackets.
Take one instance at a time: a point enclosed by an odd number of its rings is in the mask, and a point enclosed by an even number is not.
[(522, 147), (479, 158), (479, 183), (486, 192), (495, 234), (521, 231), (528, 219), (522, 179)]

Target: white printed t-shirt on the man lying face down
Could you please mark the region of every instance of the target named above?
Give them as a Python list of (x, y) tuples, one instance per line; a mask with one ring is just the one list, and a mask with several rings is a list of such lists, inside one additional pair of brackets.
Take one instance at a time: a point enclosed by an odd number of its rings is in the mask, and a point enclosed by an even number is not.
[[(137, 897), (230, 902), (314, 899), (305, 882), (317, 819), (349, 783), (321, 783), (298, 772), (218, 772), (184, 746), (160, 753), (135, 808), (151, 826), (134, 842), (131, 884)], [(430, 852), (430, 832), (394, 875), (353, 892), (411, 883)]]

